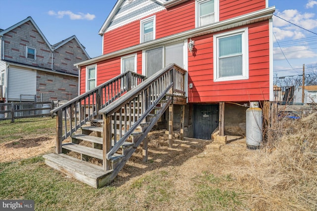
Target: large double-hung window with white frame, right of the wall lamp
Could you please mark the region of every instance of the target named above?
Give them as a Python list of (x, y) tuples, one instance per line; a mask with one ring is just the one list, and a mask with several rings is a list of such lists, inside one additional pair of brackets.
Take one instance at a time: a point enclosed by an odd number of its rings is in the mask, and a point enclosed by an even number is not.
[(213, 36), (213, 81), (249, 79), (248, 29)]

